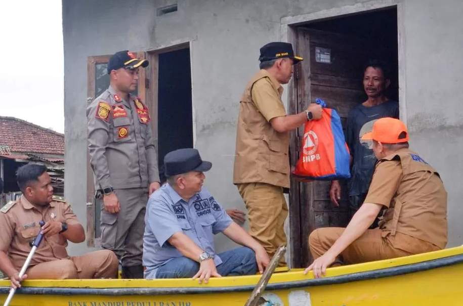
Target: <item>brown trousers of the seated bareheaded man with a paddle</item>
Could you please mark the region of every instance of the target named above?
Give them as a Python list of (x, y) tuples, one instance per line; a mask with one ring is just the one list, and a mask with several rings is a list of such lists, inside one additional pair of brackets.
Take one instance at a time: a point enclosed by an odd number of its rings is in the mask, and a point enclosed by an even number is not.
[(119, 261), (110, 250), (37, 264), (26, 270), (27, 279), (117, 278)]

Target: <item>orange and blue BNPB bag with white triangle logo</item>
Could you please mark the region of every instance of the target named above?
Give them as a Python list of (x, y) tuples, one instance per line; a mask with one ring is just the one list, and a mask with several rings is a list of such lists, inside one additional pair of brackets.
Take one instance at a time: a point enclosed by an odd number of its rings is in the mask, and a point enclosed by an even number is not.
[(341, 118), (318, 99), (323, 107), (320, 120), (305, 123), (301, 152), (292, 174), (301, 179), (331, 181), (349, 179), (350, 154), (344, 139)]

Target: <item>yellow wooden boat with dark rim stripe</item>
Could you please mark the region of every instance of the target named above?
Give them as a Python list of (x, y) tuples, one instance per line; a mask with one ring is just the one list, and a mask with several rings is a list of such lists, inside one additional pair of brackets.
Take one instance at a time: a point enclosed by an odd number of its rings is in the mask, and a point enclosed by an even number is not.
[[(330, 268), (314, 279), (302, 269), (274, 273), (260, 304), (287, 306), (463, 305), (463, 246)], [(260, 276), (191, 279), (29, 280), (14, 306), (243, 306)], [(0, 281), (0, 301), (9, 291)]]

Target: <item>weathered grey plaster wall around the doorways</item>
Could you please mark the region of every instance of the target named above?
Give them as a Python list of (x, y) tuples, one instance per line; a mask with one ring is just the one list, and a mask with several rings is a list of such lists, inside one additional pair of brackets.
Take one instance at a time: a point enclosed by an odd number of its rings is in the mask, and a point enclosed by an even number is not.
[[(227, 208), (243, 209), (232, 185), (238, 100), (247, 79), (258, 69), (259, 48), (278, 40), (282, 17), (365, 3), (354, 0), (201, 1), (180, 0), (178, 12), (156, 16), (174, 1), (65, 1), (66, 197), (82, 222), (86, 202), (87, 57), (119, 50), (147, 51), (175, 41), (192, 40), (195, 147), (213, 162), (206, 185)], [(374, 3), (374, 1), (371, 1)], [(434, 1), (404, 0), (407, 120), (412, 145), (442, 173), (449, 191), (451, 244), (461, 243), (463, 211), (458, 199), (463, 146), (461, 110), (456, 98), (462, 71), (463, 34), (458, 0), (445, 7)], [(403, 103), (401, 101), (401, 103)], [(452, 107), (453, 106), (453, 107)], [(404, 107), (404, 105), (402, 105)], [(456, 146), (456, 147), (455, 147)], [(220, 238), (218, 249), (230, 247)], [(71, 246), (80, 253), (84, 248)]]

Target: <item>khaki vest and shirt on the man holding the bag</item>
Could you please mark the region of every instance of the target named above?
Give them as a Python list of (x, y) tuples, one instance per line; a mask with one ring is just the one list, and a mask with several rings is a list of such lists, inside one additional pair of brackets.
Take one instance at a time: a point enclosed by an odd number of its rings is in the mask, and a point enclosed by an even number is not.
[(278, 133), (270, 124), (286, 115), (282, 93), (280, 83), (263, 69), (247, 83), (239, 106), (234, 184), (289, 187), (289, 133)]

